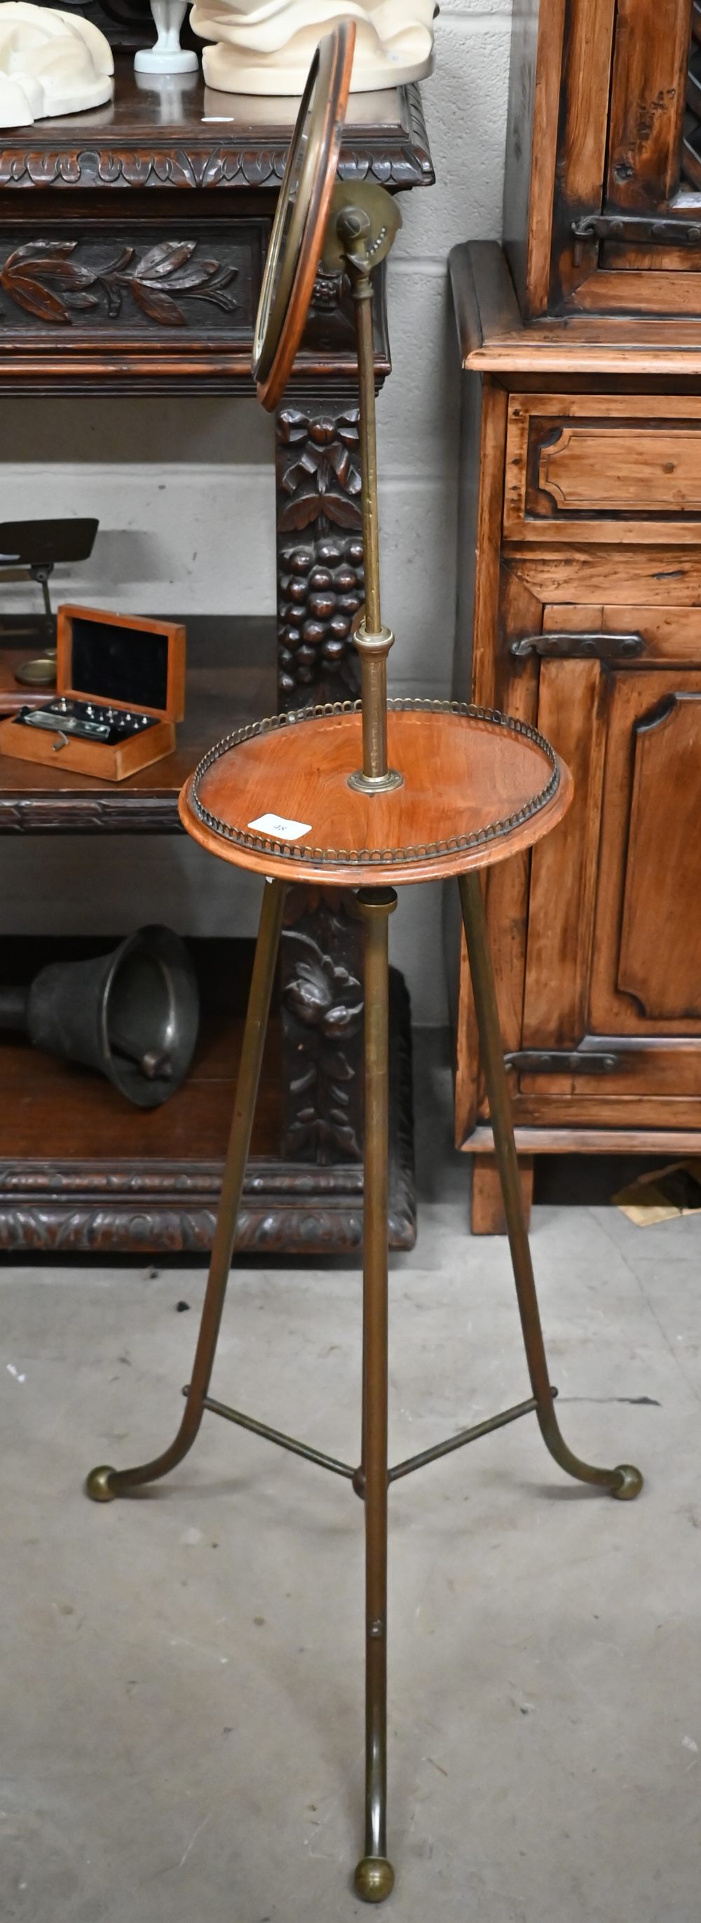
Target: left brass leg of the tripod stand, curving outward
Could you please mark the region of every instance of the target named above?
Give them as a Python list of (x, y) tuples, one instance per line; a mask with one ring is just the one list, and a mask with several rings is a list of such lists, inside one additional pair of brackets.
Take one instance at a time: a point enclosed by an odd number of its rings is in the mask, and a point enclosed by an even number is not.
[(234, 1252), (236, 1217), (244, 1188), (277, 952), (280, 944), (284, 892), (282, 881), (265, 883), (254, 977), (248, 996), (244, 1046), (236, 1081), (234, 1115), (230, 1123), (209, 1277), (184, 1415), (171, 1448), (167, 1448), (163, 1456), (156, 1456), (154, 1461), (144, 1461), (136, 1469), (109, 1469), (106, 1465), (90, 1469), (86, 1492), (94, 1502), (111, 1502), (111, 1498), (119, 1496), (125, 1488), (136, 1488), (140, 1483), (156, 1483), (161, 1475), (167, 1475), (169, 1469), (175, 1469), (175, 1465), (182, 1461), (182, 1456), (188, 1454), (202, 1423), (204, 1398), (209, 1388), (230, 1258)]

